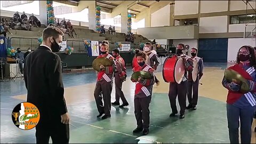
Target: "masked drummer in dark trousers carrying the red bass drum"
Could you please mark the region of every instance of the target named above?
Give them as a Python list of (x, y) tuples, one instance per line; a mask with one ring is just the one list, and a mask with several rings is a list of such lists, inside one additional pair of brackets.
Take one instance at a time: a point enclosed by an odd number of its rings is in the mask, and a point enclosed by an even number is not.
[(186, 110), (186, 97), (187, 97), (187, 71), (191, 73), (193, 71), (193, 59), (186, 54), (183, 54), (185, 50), (185, 45), (180, 43), (177, 46), (176, 53), (178, 56), (181, 56), (183, 61), (185, 61), (185, 75), (183, 76), (182, 82), (180, 84), (176, 82), (171, 82), (169, 86), (169, 100), (171, 104), (172, 113), (170, 117), (178, 114), (177, 106), (176, 106), (176, 98), (178, 95), (178, 101), (180, 105), (180, 118), (185, 118), (185, 110)]

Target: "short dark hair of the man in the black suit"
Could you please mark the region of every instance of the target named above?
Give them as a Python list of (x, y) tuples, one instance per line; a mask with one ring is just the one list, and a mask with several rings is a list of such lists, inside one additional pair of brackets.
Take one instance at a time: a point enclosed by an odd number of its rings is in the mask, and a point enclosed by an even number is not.
[(53, 36), (54, 39), (58, 38), (59, 35), (63, 36), (63, 32), (57, 27), (47, 27), (43, 30), (43, 41), (46, 41), (48, 37)]

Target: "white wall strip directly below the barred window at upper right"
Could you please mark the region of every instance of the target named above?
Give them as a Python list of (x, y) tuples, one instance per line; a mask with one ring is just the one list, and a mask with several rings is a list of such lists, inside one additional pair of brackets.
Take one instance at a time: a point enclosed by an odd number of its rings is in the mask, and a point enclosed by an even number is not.
[[(254, 25), (254, 26), (247, 26), (246, 32), (252, 31), (255, 28), (256, 23), (250, 23), (250, 25)], [(228, 31), (229, 33), (245, 32), (245, 23), (229, 25)], [(253, 31), (255, 31), (255, 29)]]

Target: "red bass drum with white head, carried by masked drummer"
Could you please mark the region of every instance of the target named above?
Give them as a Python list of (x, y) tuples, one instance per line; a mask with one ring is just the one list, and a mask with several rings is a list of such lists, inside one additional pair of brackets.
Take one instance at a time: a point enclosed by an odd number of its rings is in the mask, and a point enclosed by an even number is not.
[(184, 61), (181, 57), (173, 55), (166, 58), (163, 65), (163, 78), (166, 83), (180, 84), (185, 75)]

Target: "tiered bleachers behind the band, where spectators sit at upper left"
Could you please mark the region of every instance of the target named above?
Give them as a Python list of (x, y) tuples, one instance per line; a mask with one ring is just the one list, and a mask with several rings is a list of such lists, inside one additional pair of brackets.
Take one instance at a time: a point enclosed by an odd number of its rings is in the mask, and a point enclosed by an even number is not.
[[(103, 41), (106, 38), (108, 39), (109, 42), (123, 42), (125, 43), (125, 37), (126, 34), (124, 33), (116, 33), (115, 35), (111, 34), (98, 34), (95, 33), (93, 30), (89, 29), (88, 27), (84, 26), (74, 26), (75, 31), (77, 35), (74, 34), (74, 38), (71, 38), (68, 36), (68, 34), (65, 34), (65, 38), (68, 41), (74, 41), (70, 44), (68, 43), (68, 46), (73, 46), (73, 47), (84, 47), (82, 42), (79, 42), (77, 40), (82, 40), (82, 39), (90, 39), (91, 41)], [(27, 47), (31, 47), (32, 50), (36, 49), (38, 46), (37, 43), (37, 38), (42, 36), (42, 31), (44, 30), (44, 27), (42, 28), (36, 28), (33, 27), (32, 31), (25, 31), (25, 30), (10, 30), (13, 35), (7, 35), (7, 37), (21, 37), (20, 38), (12, 38), (11, 40), (11, 46), (13, 47), (20, 47), (22, 51), (27, 51)], [(148, 42), (148, 39), (141, 36), (141, 35), (134, 35), (134, 43), (146, 43)], [(35, 38), (35, 39), (25, 39), (25, 38)], [(24, 39), (23, 39), (24, 38)], [(129, 43), (129, 42), (126, 42)], [(113, 45), (114, 46), (114, 45)], [(76, 49), (78, 50), (78, 49)], [(111, 46), (110, 46), (111, 50)]]

